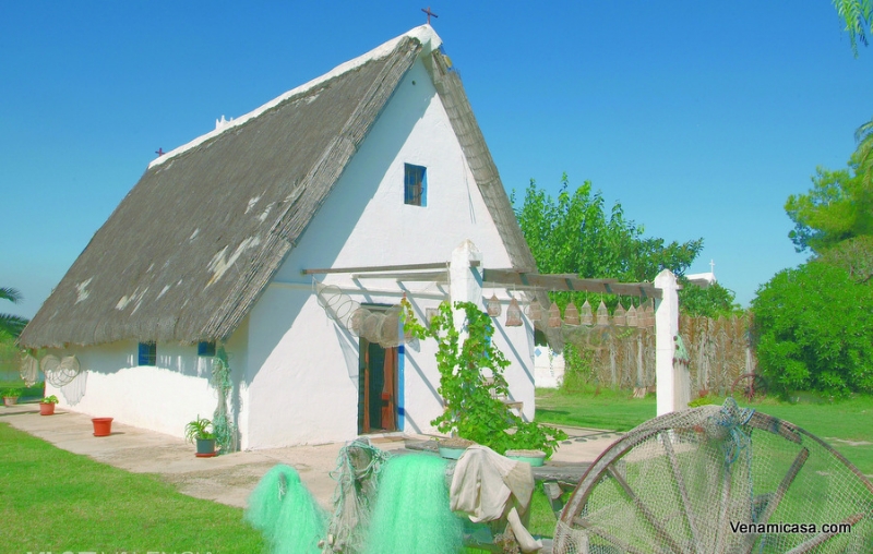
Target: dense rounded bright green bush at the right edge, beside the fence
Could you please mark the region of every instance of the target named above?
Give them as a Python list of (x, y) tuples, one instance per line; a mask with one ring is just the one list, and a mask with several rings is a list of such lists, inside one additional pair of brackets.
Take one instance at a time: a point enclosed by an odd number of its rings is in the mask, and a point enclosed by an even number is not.
[(782, 392), (873, 393), (870, 305), (873, 287), (835, 265), (776, 274), (752, 301), (760, 371)]

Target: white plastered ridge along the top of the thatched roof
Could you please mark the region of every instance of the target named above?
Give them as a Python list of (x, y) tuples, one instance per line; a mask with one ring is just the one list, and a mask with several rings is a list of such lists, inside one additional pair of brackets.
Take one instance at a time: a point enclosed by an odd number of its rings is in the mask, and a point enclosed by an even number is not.
[[(200, 146), (201, 144), (203, 144), (204, 142), (208, 141), (210, 138), (213, 138), (215, 136), (220, 135), (225, 131), (228, 131), (230, 129), (237, 128), (237, 127), (239, 127), (239, 125), (241, 125), (241, 124), (243, 124), (243, 123), (256, 118), (258, 116), (264, 113), (265, 111), (270, 110), (271, 108), (274, 108), (274, 107), (278, 106), (279, 104), (282, 104), (283, 101), (287, 100), (288, 98), (292, 98), (292, 97), (295, 97), (297, 95), (300, 95), (302, 93), (311, 91), (312, 88), (321, 85), (322, 83), (325, 83), (325, 82), (327, 82), (327, 81), (330, 81), (332, 79), (335, 79), (335, 77), (337, 77), (339, 75), (348, 73), (349, 71), (352, 71), (352, 70), (355, 70), (357, 68), (360, 68), (361, 65), (363, 65), (368, 61), (381, 60), (382, 58), (385, 58), (386, 56), (390, 56), (394, 51), (394, 48), (396, 48), (396, 46), (399, 44), (399, 41), (403, 40), (406, 37), (415, 38), (419, 43), (421, 43), (421, 46), (422, 46), (421, 55), (422, 56), (429, 55), (431, 51), (435, 50), (436, 48), (440, 47), (440, 45), (442, 45), (442, 39), (436, 34), (436, 32), (433, 31), (433, 27), (431, 27), (430, 25), (424, 24), (424, 25), (411, 28), (408, 32), (404, 33), (403, 35), (394, 37), (391, 40), (376, 46), (372, 50), (370, 50), (370, 51), (368, 51), (366, 53), (362, 53), (361, 56), (358, 56), (357, 58), (354, 58), (351, 60), (348, 60), (346, 62), (340, 63), (339, 65), (335, 67), (334, 69), (332, 69), (327, 73), (324, 73), (324, 74), (322, 74), (322, 75), (320, 75), (320, 76), (318, 76), (318, 77), (315, 77), (315, 79), (313, 79), (313, 80), (311, 80), (311, 81), (309, 81), (307, 83), (303, 83), (300, 86), (297, 86), (297, 87), (291, 88), (290, 91), (288, 91), (286, 93), (283, 93), (282, 95), (277, 96), (276, 98), (273, 98), (272, 100), (267, 101), (266, 104), (263, 104), (262, 106), (253, 109), (252, 111), (250, 111), (248, 113), (244, 113), (244, 115), (242, 115), (242, 116), (240, 116), (240, 117), (238, 117), (236, 119), (231, 119), (230, 121), (224, 121), (220, 127), (217, 127), (213, 131), (210, 131), (208, 133), (202, 134), (202, 135), (198, 136), (196, 138), (194, 138), (193, 141), (190, 141), (190, 142), (188, 142), (188, 143), (186, 143), (186, 144), (183, 144), (181, 146), (177, 146), (176, 148), (171, 149), (170, 152), (165, 153), (163, 156), (158, 156), (157, 158), (153, 159), (148, 164), (148, 169), (152, 169), (153, 167), (159, 166), (160, 164), (164, 164), (165, 161), (167, 161), (167, 160), (169, 160), (171, 158), (175, 158), (176, 156), (178, 156), (180, 154), (183, 154), (183, 153), (186, 153), (186, 152), (188, 152), (188, 150), (190, 150), (192, 148), (195, 148), (195, 147)], [(224, 118), (224, 116), (222, 116), (222, 118)]]

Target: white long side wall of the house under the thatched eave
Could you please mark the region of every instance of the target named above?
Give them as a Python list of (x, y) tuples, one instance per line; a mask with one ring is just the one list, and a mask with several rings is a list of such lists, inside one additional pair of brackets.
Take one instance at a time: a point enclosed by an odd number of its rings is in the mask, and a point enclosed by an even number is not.
[[(235, 334), (226, 346), (237, 407), (247, 404), (238, 396), (246, 394), (239, 385), (246, 366), (247, 327), (243, 324), (242, 333)], [(212, 419), (217, 406), (217, 394), (210, 385), (212, 358), (198, 357), (196, 345), (158, 344), (154, 366), (137, 365), (134, 341), (48, 353), (75, 354), (82, 370), (63, 387), (46, 383), (46, 395), (56, 395), (61, 409), (183, 436), (186, 423), (198, 416)]]

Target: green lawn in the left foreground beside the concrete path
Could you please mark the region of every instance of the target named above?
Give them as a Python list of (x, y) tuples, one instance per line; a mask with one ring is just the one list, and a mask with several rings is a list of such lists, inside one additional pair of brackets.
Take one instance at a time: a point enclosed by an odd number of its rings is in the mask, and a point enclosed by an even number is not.
[(3, 552), (256, 554), (242, 509), (192, 498), (0, 423)]

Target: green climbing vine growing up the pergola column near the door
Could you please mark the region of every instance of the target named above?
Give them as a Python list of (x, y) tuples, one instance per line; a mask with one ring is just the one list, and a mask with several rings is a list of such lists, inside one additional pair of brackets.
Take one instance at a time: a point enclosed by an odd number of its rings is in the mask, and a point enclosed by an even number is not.
[(430, 328), (418, 322), (408, 300), (403, 299), (402, 304), (404, 332), (419, 339), (433, 338), (438, 344), (438, 392), (446, 409), (431, 424), (441, 433), (475, 441), (500, 454), (507, 449), (537, 449), (551, 456), (566, 434), (524, 421), (501, 400), (510, 394), (503, 376), (510, 361), (492, 341), (491, 317), (471, 302), (455, 303), (455, 309), (466, 314), (466, 338), (462, 340), (447, 302), (440, 305)]

